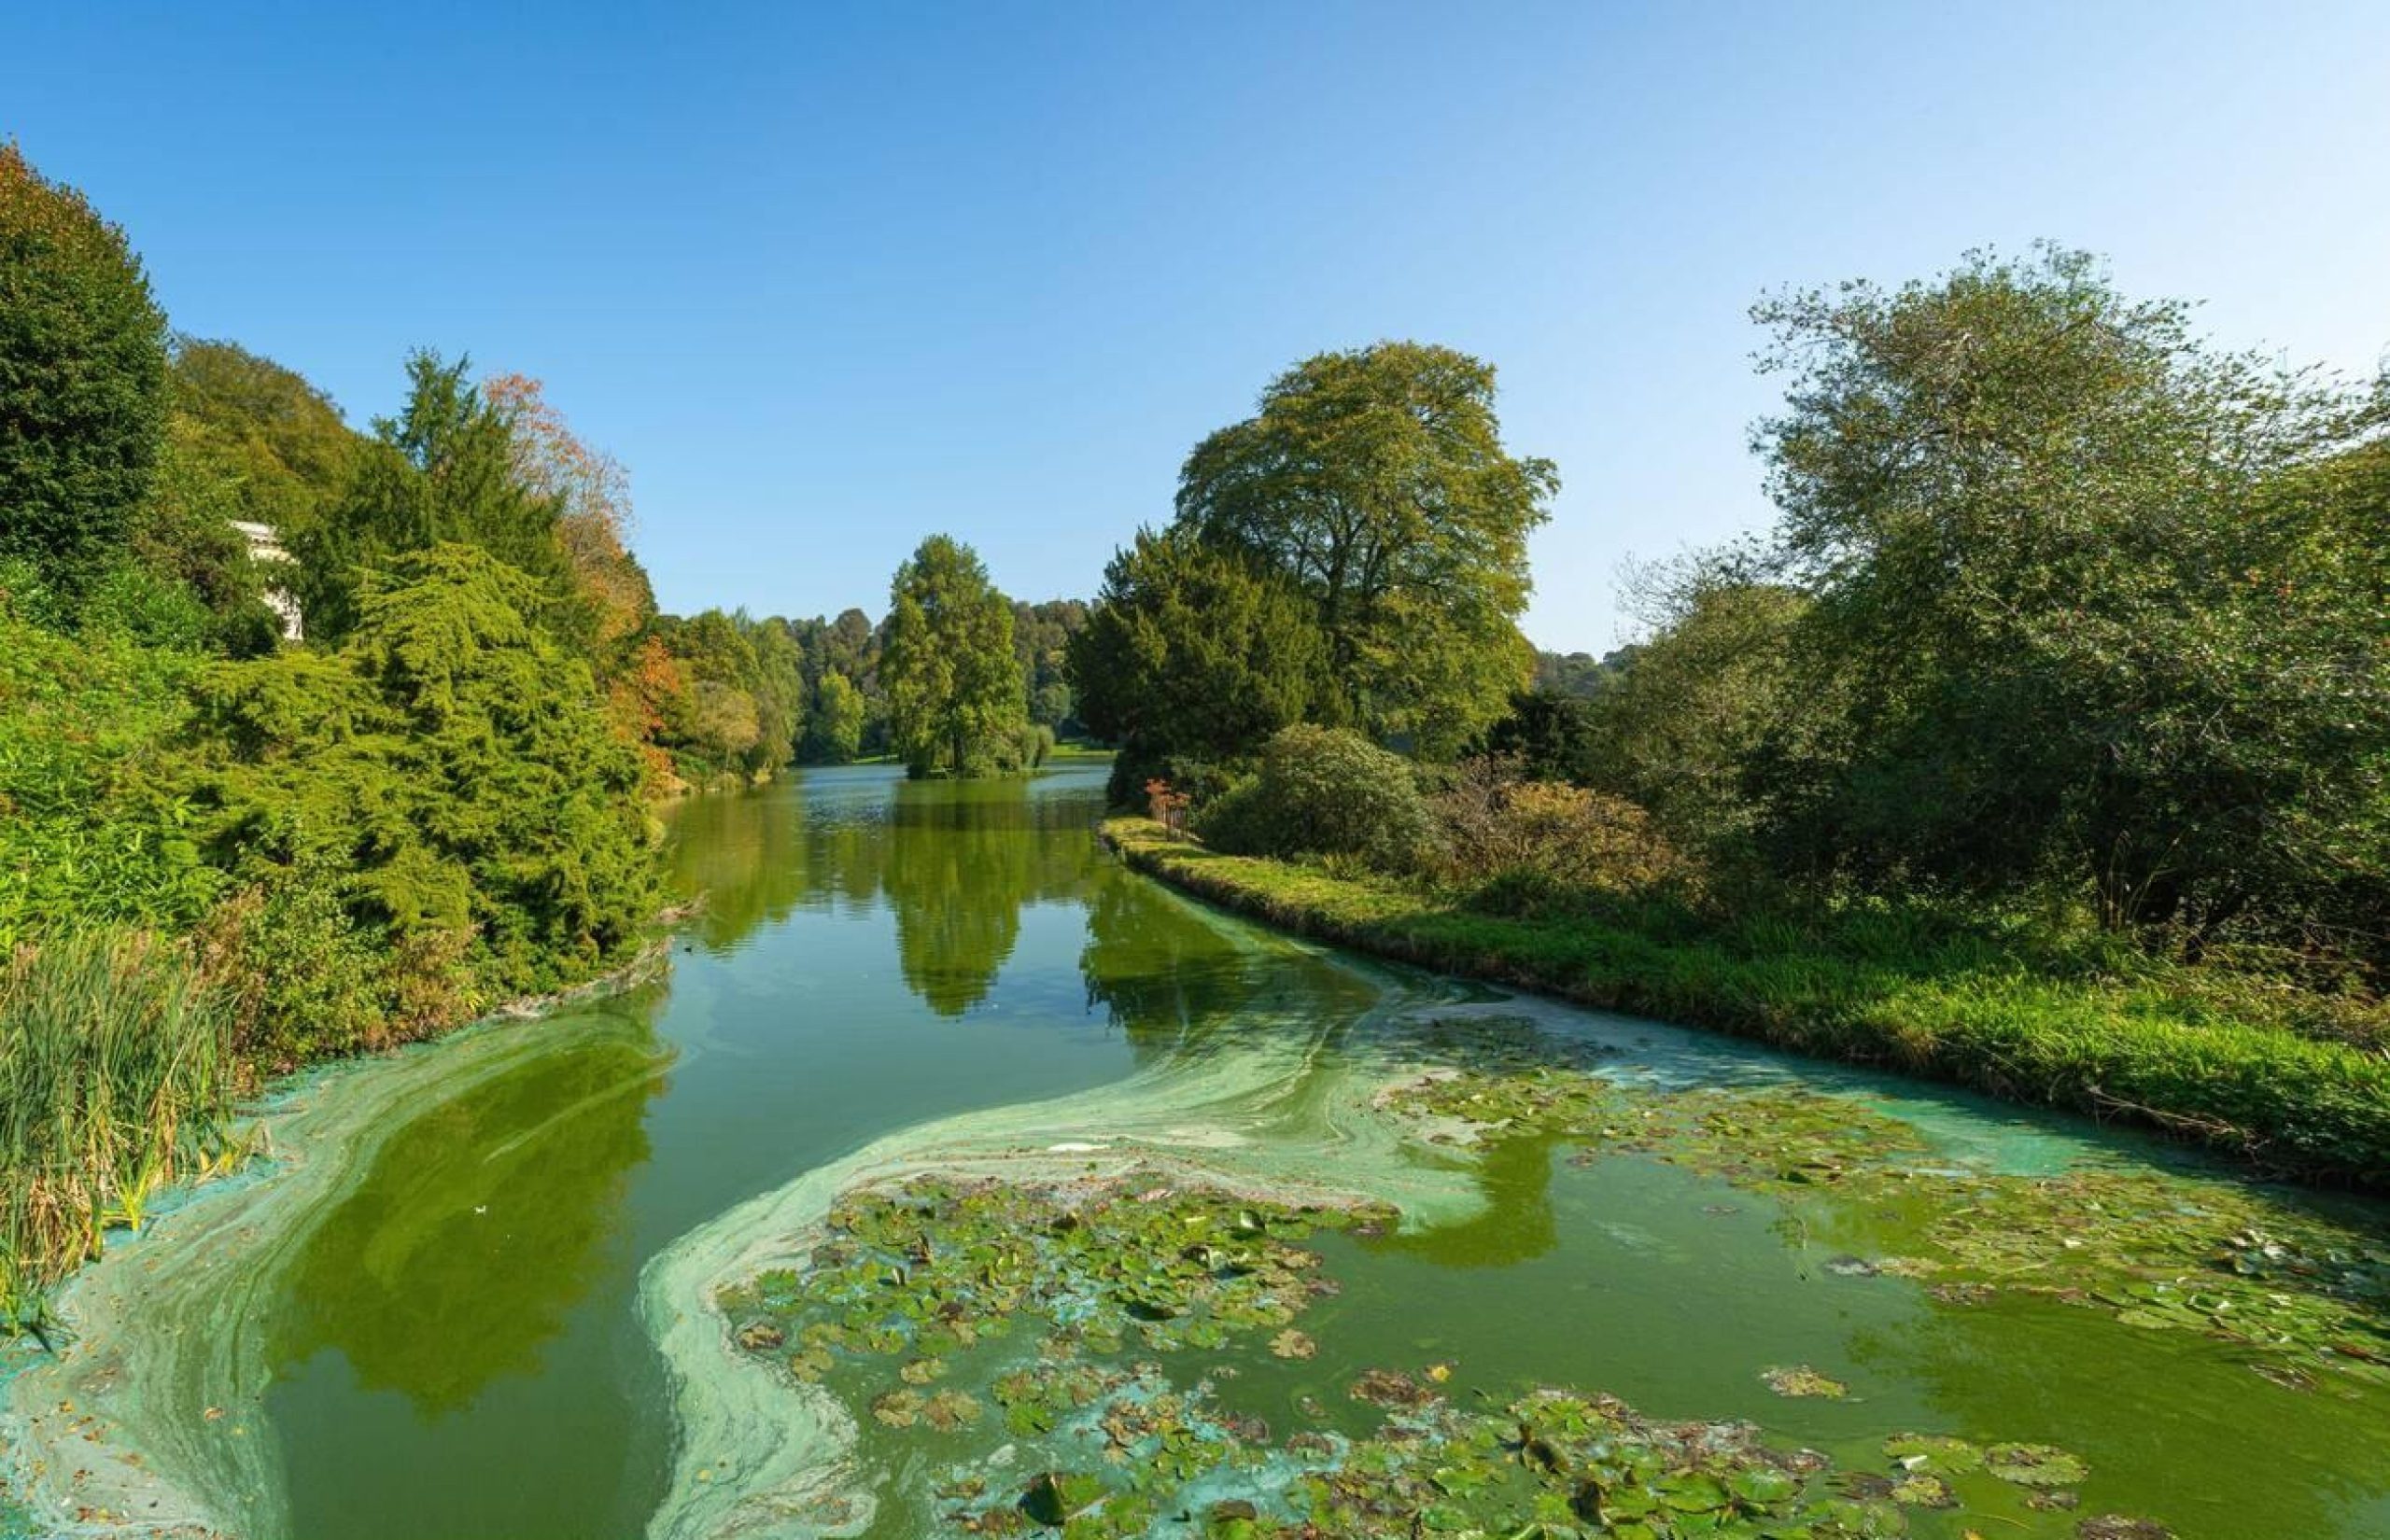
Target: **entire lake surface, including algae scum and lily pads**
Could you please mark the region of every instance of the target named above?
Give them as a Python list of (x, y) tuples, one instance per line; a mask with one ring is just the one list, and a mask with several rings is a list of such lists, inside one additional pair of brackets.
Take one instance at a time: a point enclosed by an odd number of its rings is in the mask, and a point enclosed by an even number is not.
[(323, 1072), (0, 1533), (2390, 1535), (2390, 1211), (1398, 974), (1102, 771), (681, 807), (662, 984)]

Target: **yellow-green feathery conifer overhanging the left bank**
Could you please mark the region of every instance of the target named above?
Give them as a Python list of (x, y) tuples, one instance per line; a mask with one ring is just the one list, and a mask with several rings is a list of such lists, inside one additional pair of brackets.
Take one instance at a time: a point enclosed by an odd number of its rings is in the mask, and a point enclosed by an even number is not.
[(652, 900), (641, 766), (586, 664), (526, 621), (538, 587), (473, 547), (366, 585), (339, 654), (201, 683), (208, 845), (234, 876), (327, 862), (392, 945), (471, 934), (485, 996), (621, 955)]

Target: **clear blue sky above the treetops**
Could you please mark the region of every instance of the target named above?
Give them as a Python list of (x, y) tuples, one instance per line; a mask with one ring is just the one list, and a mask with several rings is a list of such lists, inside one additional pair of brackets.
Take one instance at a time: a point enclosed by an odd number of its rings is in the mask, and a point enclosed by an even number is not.
[(633, 473), (669, 609), (884, 606), (932, 530), (1087, 595), (1185, 449), (1379, 337), (1561, 463), (1527, 630), (1766, 520), (1764, 289), (2053, 236), (2390, 344), (2390, 7), (10, 7), (0, 134), (172, 320), (390, 411), (430, 344)]

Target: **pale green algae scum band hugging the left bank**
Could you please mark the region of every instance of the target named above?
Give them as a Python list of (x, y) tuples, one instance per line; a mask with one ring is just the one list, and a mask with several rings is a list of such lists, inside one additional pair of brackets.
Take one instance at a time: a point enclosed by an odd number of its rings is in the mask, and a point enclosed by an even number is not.
[[(373, 1148), (404, 1122), (385, 1113), (550, 1053), (554, 1017), (662, 979), (676, 926), (693, 912), (660, 910), (655, 936), (569, 988), (507, 1000), (380, 1053), (265, 1077), (239, 1108), (265, 1134), (261, 1153), (160, 1194), (139, 1232), (112, 1232), (98, 1258), (67, 1273), (53, 1292), (67, 1328), (55, 1349), (0, 1344), (0, 1540), (17, 1540), (12, 1521), (36, 1526), (26, 1538), (282, 1533), (275, 1452), (249, 1423), (268, 1366), (244, 1330), (244, 1304), (270, 1294), (287, 1258), (251, 1237), (361, 1179)], [(607, 1029), (602, 1015), (588, 1022)], [(669, 1062), (660, 1055), (657, 1072)], [(160, 1332), (160, 1318), (179, 1328)], [(189, 1332), (206, 1344), (177, 1354), (174, 1339)]]

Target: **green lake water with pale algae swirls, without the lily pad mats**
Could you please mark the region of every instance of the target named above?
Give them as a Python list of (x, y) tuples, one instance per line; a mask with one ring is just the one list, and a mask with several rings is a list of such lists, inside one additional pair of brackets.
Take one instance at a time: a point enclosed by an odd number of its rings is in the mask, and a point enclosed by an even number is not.
[[(131, 1339), (24, 1373), (12, 1416), (38, 1406), (55, 1440), (72, 1392), (141, 1456), (91, 1476), (160, 1504), (134, 1519), (253, 1535), (734, 1533), (741, 1490), (817, 1454), (877, 1487), (872, 1533), (923, 1533), (920, 1440), (829, 1428), (736, 1366), (710, 1287), (782, 1242), (801, 1253), (858, 1175), (1066, 1141), (1410, 1215), (1317, 1242), (1341, 1292), (1305, 1316), (1314, 1359), (1248, 1354), (1221, 1382), (1276, 1428), (1350, 1406), (1360, 1368), (1448, 1361), (1456, 1390), (1575, 1385), (1838, 1459), (1905, 1430), (2063, 1444), (2094, 1468), (2082, 1514), (2184, 1538), (2390, 1535), (2378, 1387), (2297, 1390), (2199, 1335), (2051, 1299), (1950, 1306), (1828, 1265), (1898, 1251), (1914, 1215), (1558, 1141), (1403, 1141), (1367, 1110), (1398, 1015), (1501, 1003), (1121, 871), (1092, 840), (1099, 788), (1102, 766), (963, 788), (853, 769), (679, 807), (674, 871), (707, 907), (664, 984), (304, 1086), (292, 1139), (315, 1153), (120, 1246), (69, 1308), (112, 1304)], [(2017, 1170), (2139, 1158), (2063, 1120), (1534, 1010), (1663, 1077), (1819, 1084)], [(2380, 1211), (2357, 1222), (2390, 1234)], [(1776, 1363), (1850, 1397), (1776, 1397)], [(1919, 1514), (1914, 1533), (1953, 1523)], [(2072, 1533), (2022, 1507), (1974, 1523)]]

